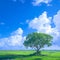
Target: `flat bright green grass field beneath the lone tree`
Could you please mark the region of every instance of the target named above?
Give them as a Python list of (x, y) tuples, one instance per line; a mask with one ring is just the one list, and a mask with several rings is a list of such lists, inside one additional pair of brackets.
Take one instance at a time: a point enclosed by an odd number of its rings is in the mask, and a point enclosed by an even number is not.
[(60, 60), (60, 51), (42, 51), (42, 56), (30, 56), (35, 51), (0, 51), (0, 60)]

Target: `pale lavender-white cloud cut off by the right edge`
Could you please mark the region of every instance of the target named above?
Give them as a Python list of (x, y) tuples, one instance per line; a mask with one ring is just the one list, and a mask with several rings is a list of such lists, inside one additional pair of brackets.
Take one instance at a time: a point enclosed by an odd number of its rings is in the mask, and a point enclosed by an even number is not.
[(58, 41), (56, 41), (55, 44), (57, 43), (60, 46), (60, 10), (56, 15), (54, 15), (53, 21), (55, 23), (55, 29), (57, 29), (58, 31), (58, 35), (55, 36), (55, 39), (57, 39)]

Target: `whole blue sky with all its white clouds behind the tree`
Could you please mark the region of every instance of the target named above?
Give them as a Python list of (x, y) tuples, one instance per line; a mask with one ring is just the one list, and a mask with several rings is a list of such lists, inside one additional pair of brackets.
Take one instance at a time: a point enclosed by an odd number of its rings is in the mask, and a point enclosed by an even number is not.
[(0, 50), (25, 50), (32, 32), (53, 36), (43, 49), (60, 50), (60, 0), (0, 0)]

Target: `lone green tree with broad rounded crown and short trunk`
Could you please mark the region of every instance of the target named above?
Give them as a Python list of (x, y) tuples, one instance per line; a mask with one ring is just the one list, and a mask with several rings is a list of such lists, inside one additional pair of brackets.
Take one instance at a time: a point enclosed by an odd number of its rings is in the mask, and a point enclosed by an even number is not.
[(24, 41), (24, 46), (31, 47), (36, 50), (36, 55), (40, 55), (41, 48), (44, 46), (51, 46), (52, 36), (45, 34), (45, 33), (31, 33), (28, 34), (26, 40)]

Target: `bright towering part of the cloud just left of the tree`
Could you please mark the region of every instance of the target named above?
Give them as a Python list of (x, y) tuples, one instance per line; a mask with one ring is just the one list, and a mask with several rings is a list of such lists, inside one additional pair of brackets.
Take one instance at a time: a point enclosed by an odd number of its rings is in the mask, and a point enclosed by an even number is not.
[(9, 37), (9, 43), (12, 46), (15, 45), (22, 45), (23, 42), (23, 30), (21, 28), (19, 28), (18, 30), (16, 30), (15, 32), (12, 33), (13, 35)]

